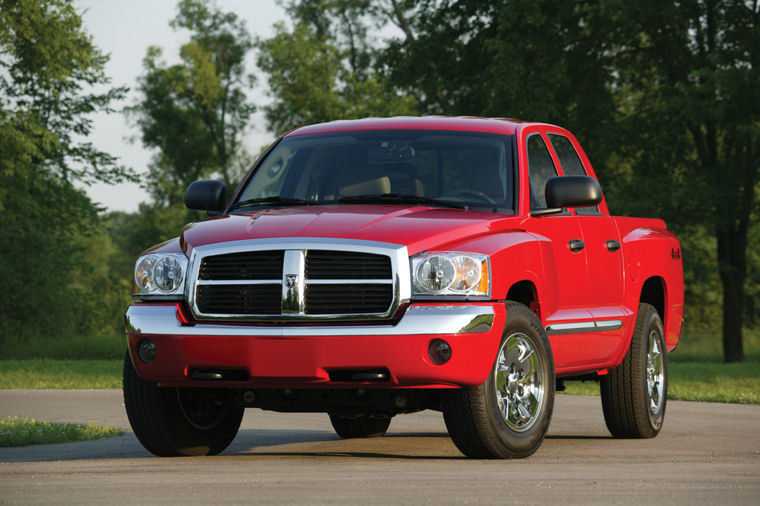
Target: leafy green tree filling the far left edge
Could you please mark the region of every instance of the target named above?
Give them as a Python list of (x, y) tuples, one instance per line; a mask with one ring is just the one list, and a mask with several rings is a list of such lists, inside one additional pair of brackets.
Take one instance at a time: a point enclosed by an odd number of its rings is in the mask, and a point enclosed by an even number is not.
[(0, 0), (0, 341), (92, 330), (103, 304), (84, 255), (97, 209), (74, 183), (130, 177), (86, 141), (125, 92), (93, 91), (106, 60), (68, 1)]

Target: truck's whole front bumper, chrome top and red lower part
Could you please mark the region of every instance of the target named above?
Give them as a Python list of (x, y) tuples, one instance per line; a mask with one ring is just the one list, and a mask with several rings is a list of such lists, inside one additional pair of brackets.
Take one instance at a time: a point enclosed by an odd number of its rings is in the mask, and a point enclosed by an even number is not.
[[(489, 302), (413, 304), (395, 325), (193, 324), (177, 304), (135, 303), (126, 327), (138, 374), (165, 386), (430, 388), (483, 383), (505, 320), (504, 305)], [(137, 355), (143, 339), (156, 345), (150, 364)], [(430, 360), (432, 339), (451, 345), (451, 360)], [(334, 371), (373, 369), (387, 369), (389, 379), (366, 385), (330, 379)], [(242, 371), (246, 379), (193, 379), (194, 370)]]

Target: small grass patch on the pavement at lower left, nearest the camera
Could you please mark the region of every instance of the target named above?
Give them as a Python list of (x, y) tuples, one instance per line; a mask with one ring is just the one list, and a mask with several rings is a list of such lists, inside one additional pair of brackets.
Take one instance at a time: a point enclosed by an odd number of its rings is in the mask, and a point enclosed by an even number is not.
[(0, 419), (0, 447), (90, 441), (124, 434), (115, 427), (38, 422), (27, 418)]

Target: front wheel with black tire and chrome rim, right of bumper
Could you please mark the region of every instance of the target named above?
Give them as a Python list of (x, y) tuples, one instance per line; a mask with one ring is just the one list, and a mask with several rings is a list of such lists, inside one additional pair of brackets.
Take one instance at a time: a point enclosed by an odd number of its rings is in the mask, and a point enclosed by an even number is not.
[[(525, 355), (528, 350), (532, 353)], [(507, 322), (488, 379), (444, 400), (449, 435), (470, 458), (528, 457), (549, 429), (554, 388), (554, 360), (541, 322), (524, 305), (507, 302)], [(530, 416), (520, 414), (525, 412)]]

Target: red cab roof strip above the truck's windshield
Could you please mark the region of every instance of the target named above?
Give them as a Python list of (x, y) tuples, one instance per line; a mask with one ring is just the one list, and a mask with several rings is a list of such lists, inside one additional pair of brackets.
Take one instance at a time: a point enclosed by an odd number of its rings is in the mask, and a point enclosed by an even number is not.
[(350, 132), (354, 130), (459, 130), (512, 135), (519, 124), (525, 123), (524, 121), (511, 118), (396, 116), (393, 118), (364, 118), (318, 123), (291, 130), (285, 134), (285, 137), (330, 132)]

